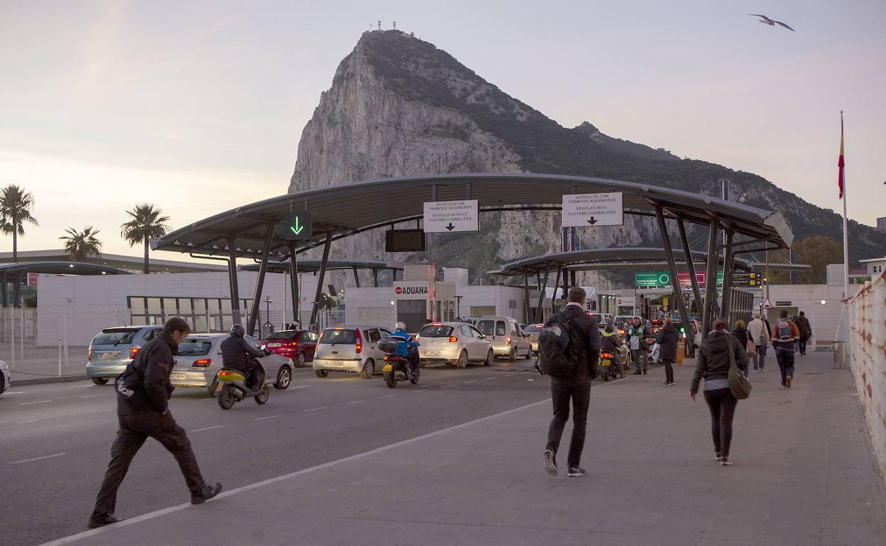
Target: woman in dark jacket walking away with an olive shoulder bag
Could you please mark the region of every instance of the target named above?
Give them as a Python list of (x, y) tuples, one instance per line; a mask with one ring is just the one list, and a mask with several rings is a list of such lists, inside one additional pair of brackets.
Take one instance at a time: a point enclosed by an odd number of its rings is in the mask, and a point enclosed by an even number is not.
[(696, 400), (699, 383), (704, 378), (704, 401), (711, 410), (711, 436), (714, 441), (714, 460), (724, 466), (732, 465), (729, 447), (732, 444), (732, 419), (738, 400), (729, 388), (729, 353), (741, 370), (748, 367), (748, 353), (726, 331), (726, 320), (717, 319), (714, 329), (704, 338), (698, 351), (696, 373), (692, 376), (689, 396)]

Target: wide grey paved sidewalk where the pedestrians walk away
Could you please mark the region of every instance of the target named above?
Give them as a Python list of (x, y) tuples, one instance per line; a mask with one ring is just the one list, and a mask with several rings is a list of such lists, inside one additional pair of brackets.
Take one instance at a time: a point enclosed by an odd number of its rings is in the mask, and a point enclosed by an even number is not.
[(545, 401), (73, 543), (882, 546), (886, 492), (851, 375), (831, 360), (798, 358), (789, 390), (777, 369), (751, 376), (731, 467), (712, 460), (707, 408), (677, 366), (673, 387), (660, 369), (595, 383), (584, 478), (544, 473)]

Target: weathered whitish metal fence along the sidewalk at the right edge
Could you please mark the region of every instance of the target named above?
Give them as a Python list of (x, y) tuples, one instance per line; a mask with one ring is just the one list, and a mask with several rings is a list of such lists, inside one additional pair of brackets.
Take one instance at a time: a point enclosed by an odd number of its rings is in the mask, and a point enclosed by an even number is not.
[(848, 312), (848, 360), (880, 473), (886, 476), (886, 277), (867, 282)]

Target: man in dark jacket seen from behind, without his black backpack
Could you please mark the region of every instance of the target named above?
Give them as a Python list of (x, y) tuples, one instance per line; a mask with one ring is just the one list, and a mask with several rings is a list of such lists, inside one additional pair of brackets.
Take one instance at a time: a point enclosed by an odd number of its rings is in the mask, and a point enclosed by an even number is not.
[(545, 468), (552, 476), (556, 476), (556, 452), (560, 447), (563, 428), (569, 420), (569, 403), (572, 402), (572, 439), (569, 443), (570, 477), (585, 475), (585, 469), (579, 466), (581, 451), (585, 447), (585, 430), (587, 428), (587, 406), (591, 398), (591, 378), (595, 375), (600, 362), (600, 329), (595, 319), (585, 311), (585, 291), (579, 287), (569, 290), (569, 304), (563, 311), (548, 319), (546, 327), (556, 323), (569, 321), (570, 342), (567, 350), (571, 350), (574, 358), (575, 373), (571, 377), (551, 377), (551, 398), (554, 401), (554, 419), (548, 428), (548, 446), (545, 449)]

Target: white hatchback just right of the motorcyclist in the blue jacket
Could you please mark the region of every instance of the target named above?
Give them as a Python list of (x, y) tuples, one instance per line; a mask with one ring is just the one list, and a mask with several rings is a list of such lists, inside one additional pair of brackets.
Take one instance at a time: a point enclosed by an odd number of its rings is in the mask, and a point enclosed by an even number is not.
[(418, 356), (422, 364), (455, 364), (460, 368), (469, 362), (492, 365), (493, 344), (476, 327), (464, 322), (433, 322), (418, 333)]

